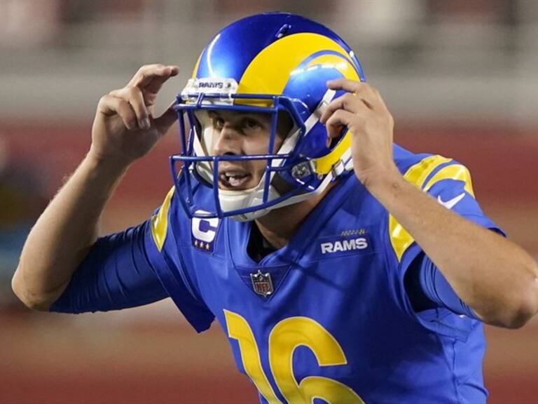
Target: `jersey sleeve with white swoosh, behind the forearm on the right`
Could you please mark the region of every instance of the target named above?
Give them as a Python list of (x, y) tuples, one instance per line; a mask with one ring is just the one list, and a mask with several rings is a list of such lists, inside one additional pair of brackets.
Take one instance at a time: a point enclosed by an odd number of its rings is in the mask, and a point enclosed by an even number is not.
[[(474, 196), (469, 170), (465, 166), (462, 166), (462, 164), (442, 156), (426, 156), (418, 161), (418, 163), (409, 167), (405, 171), (404, 177), (409, 182), (415, 184), (415, 186), (427, 192), (432, 198), (435, 198), (445, 208), (453, 210), (458, 215), (481, 227), (504, 235), (502, 229), (497, 227), (483, 213), (478, 205)], [(424, 263), (431, 262), (431, 260), (422, 251), (420, 245), (415, 243), (411, 234), (392, 215), (389, 216), (389, 239), (394, 256), (396, 257), (400, 286), (408, 306), (412, 306), (411, 300), (413, 302), (423, 302), (423, 297), (431, 297), (432, 290), (434, 293), (441, 292), (443, 294), (443, 296), (437, 296), (440, 297), (439, 299), (430, 299), (434, 309), (421, 311), (420, 313), (413, 311), (413, 315), (429, 330), (441, 332), (441, 334), (450, 337), (466, 339), (468, 332), (473, 327), (469, 321), (474, 316), (464, 312), (464, 302), (461, 302), (461, 310), (458, 309), (456, 303), (459, 301), (459, 297), (450, 288), (450, 285), (444, 280), (439, 271), (436, 273), (435, 283), (406, 282), (406, 275), (410, 269), (432, 269), (433, 263), (432, 265), (423, 265)], [(422, 272), (423, 274), (430, 273)], [(420, 281), (420, 273), (418, 275), (419, 277), (416, 279)], [(431, 280), (434, 280), (434, 278), (431, 278)], [(415, 285), (415, 287), (409, 288), (410, 284)], [(425, 290), (425, 285), (434, 288)], [(447, 285), (448, 288), (445, 287)], [(421, 289), (418, 290), (417, 288)], [(415, 295), (409, 295), (410, 293), (418, 292), (422, 294), (418, 298)], [(443, 304), (442, 302), (450, 302), (450, 304)], [(450, 313), (457, 315), (450, 316)]]

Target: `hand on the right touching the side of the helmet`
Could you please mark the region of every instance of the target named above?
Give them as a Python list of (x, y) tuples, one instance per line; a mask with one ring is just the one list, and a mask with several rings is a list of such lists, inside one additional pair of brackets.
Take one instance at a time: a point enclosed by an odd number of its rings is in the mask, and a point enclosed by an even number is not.
[(327, 87), (346, 93), (329, 103), (320, 121), (331, 139), (345, 127), (351, 131), (353, 167), (359, 181), (368, 188), (388, 175), (397, 175), (392, 160), (394, 119), (378, 90), (349, 79), (328, 81)]

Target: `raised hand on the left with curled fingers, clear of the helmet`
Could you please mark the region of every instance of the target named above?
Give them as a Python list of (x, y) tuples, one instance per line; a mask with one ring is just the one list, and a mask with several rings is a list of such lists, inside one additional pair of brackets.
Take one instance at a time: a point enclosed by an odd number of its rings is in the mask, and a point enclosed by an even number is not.
[(155, 118), (153, 105), (163, 83), (177, 66), (140, 67), (127, 86), (101, 97), (92, 127), (90, 154), (98, 161), (128, 164), (148, 153), (176, 121), (173, 104)]

